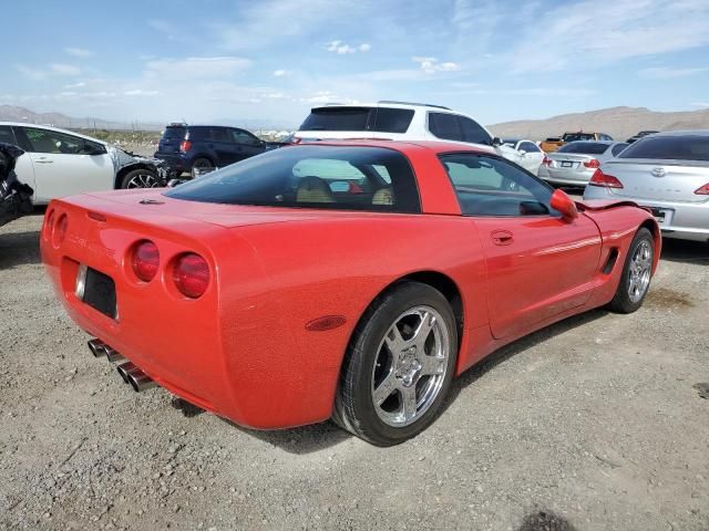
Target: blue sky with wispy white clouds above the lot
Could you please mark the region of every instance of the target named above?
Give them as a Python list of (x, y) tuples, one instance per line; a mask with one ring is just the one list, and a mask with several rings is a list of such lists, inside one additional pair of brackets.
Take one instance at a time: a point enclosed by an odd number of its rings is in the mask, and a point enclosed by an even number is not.
[(709, 107), (709, 0), (38, 0), (3, 10), (0, 48), (0, 104), (123, 122)]

